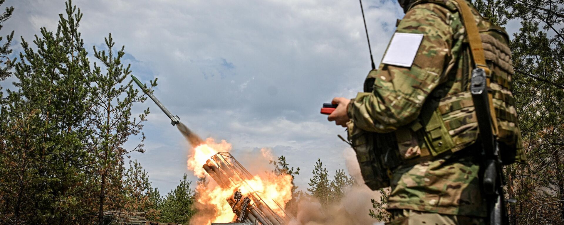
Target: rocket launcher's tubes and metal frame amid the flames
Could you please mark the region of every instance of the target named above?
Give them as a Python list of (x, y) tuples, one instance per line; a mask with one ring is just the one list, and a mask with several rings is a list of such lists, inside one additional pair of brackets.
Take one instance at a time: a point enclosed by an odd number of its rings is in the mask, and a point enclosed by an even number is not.
[[(231, 223), (223, 224), (243, 224), (243, 223), (253, 223), (261, 225), (285, 225), (293, 220), (290, 215), (288, 215), (280, 204), (275, 202), (276, 206), (284, 212), (283, 216), (276, 214), (258, 195), (257, 191), (254, 191), (245, 180), (253, 179), (253, 175), (249, 173), (239, 163), (235, 160), (228, 152), (220, 152), (210, 157), (206, 164), (202, 165), (202, 168), (210, 175), (210, 177), (215, 180), (215, 182), (222, 188), (230, 187), (245, 187), (250, 190), (248, 196), (243, 196), (240, 190), (235, 191), (232, 196), (228, 197), (226, 200), (228, 204), (233, 209), (233, 213), (237, 215), (237, 219)], [(221, 224), (221, 223), (214, 223)]]

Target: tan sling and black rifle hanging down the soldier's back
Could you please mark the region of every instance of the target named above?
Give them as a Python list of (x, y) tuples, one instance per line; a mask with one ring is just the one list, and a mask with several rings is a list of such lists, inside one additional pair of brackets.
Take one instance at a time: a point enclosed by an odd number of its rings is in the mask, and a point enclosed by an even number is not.
[(497, 144), (497, 118), (493, 107), (493, 93), (490, 90), (491, 70), (486, 64), (482, 38), (474, 14), (465, 0), (455, 0), (462, 15), (466, 37), (474, 61), (471, 75), (470, 91), (478, 119), (479, 135), (482, 141), (483, 162), (482, 188), (488, 197), (488, 213), (491, 225), (507, 223), (507, 211), (503, 196), (503, 174), (501, 174), (501, 160), (499, 144)]

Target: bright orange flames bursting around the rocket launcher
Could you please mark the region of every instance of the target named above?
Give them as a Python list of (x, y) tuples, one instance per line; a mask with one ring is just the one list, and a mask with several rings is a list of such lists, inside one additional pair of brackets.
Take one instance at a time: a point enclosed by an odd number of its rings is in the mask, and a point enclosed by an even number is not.
[[(273, 158), (270, 149), (261, 150), (262, 160), (268, 161)], [(227, 143), (226, 140), (215, 143), (214, 139), (208, 138), (204, 144), (194, 148), (188, 156), (188, 169), (192, 170), (194, 175), (199, 178), (213, 180), (202, 169), (202, 165), (206, 164), (211, 156), (228, 151), (231, 151), (231, 144)], [(196, 201), (202, 207), (205, 206), (205, 209), (200, 209), (199, 214), (195, 215), (196, 219), (193, 219), (197, 221), (195, 223), (228, 223), (235, 220), (237, 216), (227, 203), (227, 198), (232, 197), (237, 190), (241, 191), (243, 197), (256, 193), (275, 213), (284, 217), (284, 207), (292, 199), (292, 176), (287, 174), (276, 175), (266, 172), (267, 170), (271, 169), (265, 168), (265, 173), (254, 174), (252, 179), (245, 179), (228, 188), (222, 188), (215, 182), (210, 182), (209, 187), (197, 187)], [(251, 202), (251, 204), (253, 203)]]

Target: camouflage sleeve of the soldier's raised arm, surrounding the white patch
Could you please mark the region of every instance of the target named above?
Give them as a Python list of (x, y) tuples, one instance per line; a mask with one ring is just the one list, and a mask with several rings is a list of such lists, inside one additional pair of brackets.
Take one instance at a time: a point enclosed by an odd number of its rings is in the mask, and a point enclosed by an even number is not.
[(411, 67), (380, 64), (373, 92), (359, 92), (349, 104), (354, 126), (387, 133), (417, 118), (452, 56), (449, 16), (446, 8), (433, 3), (416, 5), (407, 12), (396, 33), (424, 34), (415, 60)]

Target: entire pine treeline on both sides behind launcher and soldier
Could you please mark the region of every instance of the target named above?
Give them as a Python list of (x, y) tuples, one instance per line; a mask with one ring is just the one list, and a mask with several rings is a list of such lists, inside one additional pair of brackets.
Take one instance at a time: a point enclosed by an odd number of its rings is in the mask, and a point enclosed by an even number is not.
[[(510, 42), (512, 86), (528, 163), (504, 168), (506, 193), (517, 200), (508, 204), (510, 223), (564, 224), (564, 0), (474, 4), (497, 25), (519, 24)], [(13, 12), (6, 8), (0, 23), (9, 23)], [(108, 210), (147, 211), (148, 219), (186, 223), (197, 194), (186, 177), (161, 197), (129, 160), (130, 153), (145, 151), (149, 111), (131, 112), (146, 98), (126, 81), (131, 70), (122, 63), (124, 47), (115, 48), (110, 34), (105, 49), (93, 47), (89, 55), (78, 32), (81, 19), (68, 1), (58, 28), (42, 28), (32, 42), (21, 38), (17, 58), (8, 58), (14, 32), (0, 37), (0, 81), (12, 77), (16, 86), (0, 91), (0, 223), (95, 224)], [(141, 138), (126, 149), (132, 135)], [(285, 158), (273, 165), (275, 173), (299, 174)], [(330, 179), (320, 160), (312, 173), (309, 193), (294, 187), (289, 205), (302, 195), (327, 205), (354, 182), (342, 170)], [(385, 218), (385, 198), (373, 203), (373, 217)]]

